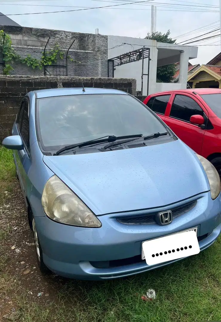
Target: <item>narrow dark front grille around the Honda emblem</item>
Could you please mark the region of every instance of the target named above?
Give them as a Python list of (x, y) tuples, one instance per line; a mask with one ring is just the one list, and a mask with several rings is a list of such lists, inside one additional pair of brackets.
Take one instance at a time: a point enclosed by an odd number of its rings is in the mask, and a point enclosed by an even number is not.
[[(183, 204), (179, 207), (169, 209), (173, 213), (173, 219), (193, 209), (196, 206), (196, 202), (197, 201), (194, 200), (187, 204)], [(163, 210), (161, 212), (163, 212)], [(123, 223), (126, 225), (148, 225), (148, 224), (156, 223), (156, 220), (155, 220), (156, 214), (157, 213), (154, 212), (154, 213), (146, 213), (144, 215), (125, 216), (125, 217), (117, 218), (117, 221), (119, 223)]]

